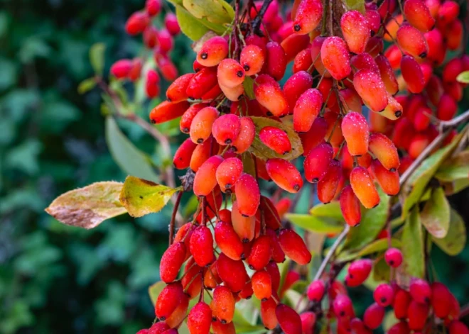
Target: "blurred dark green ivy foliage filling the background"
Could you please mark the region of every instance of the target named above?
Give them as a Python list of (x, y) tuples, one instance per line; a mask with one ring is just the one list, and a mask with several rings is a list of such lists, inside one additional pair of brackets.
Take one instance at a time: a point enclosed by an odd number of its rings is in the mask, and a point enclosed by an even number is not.
[[(107, 69), (138, 54), (140, 40), (123, 27), (143, 4), (0, 0), (0, 333), (135, 333), (153, 320), (147, 289), (158, 280), (171, 208), (90, 231), (43, 211), (65, 191), (125, 177), (104, 140), (100, 91), (81, 96), (77, 85), (92, 76), (93, 43), (107, 45)], [(174, 52), (190, 68), (188, 40), (180, 36)], [(157, 158), (153, 139), (121, 125)], [(467, 194), (454, 201), (466, 222)], [(439, 277), (468, 301), (469, 248), (433, 256)]]

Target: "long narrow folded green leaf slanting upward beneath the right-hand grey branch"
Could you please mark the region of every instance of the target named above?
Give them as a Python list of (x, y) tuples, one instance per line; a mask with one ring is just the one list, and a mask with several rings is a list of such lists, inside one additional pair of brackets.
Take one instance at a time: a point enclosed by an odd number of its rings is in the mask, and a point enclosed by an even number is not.
[(424, 160), (415, 172), (411, 174), (411, 177), (409, 177), (404, 186), (401, 187), (401, 191), (406, 194), (406, 199), (402, 206), (402, 216), (404, 218), (407, 216), (412, 206), (419, 202), (425, 192), (426, 185), (435, 175), (438, 167), (448, 159), (455, 147), (458, 146), (464, 133), (465, 131), (462, 131), (448, 146), (441, 148)]

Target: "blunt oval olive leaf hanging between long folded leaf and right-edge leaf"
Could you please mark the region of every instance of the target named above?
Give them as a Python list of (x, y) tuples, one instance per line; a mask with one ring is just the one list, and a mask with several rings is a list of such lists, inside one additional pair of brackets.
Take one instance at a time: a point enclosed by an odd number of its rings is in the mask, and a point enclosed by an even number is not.
[(438, 187), (431, 191), (431, 197), (420, 213), (420, 220), (428, 233), (435, 238), (446, 236), (450, 222), (450, 206), (443, 188)]

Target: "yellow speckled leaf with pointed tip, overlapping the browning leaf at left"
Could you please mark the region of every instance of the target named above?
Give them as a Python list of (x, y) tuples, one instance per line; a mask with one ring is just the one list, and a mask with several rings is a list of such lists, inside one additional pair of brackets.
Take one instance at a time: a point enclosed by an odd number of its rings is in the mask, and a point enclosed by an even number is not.
[(141, 217), (160, 211), (178, 190), (129, 176), (125, 179), (119, 200), (130, 216)]

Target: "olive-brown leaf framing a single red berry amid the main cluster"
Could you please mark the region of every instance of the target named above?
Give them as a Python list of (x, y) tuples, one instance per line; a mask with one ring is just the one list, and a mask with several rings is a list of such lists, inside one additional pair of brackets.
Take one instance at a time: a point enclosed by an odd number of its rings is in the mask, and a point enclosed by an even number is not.
[[(251, 147), (249, 147), (249, 152), (252, 152), (252, 154), (254, 154), (256, 157), (259, 157), (262, 160), (273, 158), (293, 160), (303, 154), (303, 145), (301, 145), (301, 140), (291, 126), (287, 126), (285, 123), (275, 121), (271, 118), (256, 116), (252, 116), (251, 118), (254, 122), (254, 126), (256, 126), (256, 137), (254, 138)], [(275, 128), (279, 128), (286, 132), (291, 143), (290, 152), (288, 152), (286, 155), (280, 155), (262, 143), (262, 141), (259, 139), (259, 131), (266, 126), (274, 126)]]

